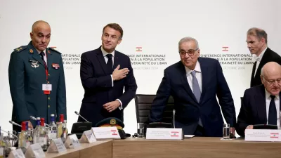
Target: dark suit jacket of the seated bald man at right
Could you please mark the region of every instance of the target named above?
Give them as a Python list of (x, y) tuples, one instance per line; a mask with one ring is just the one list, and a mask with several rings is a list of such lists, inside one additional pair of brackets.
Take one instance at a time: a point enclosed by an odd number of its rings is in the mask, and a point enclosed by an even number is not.
[[(279, 96), (281, 97), (281, 93)], [(266, 91), (263, 85), (254, 86), (244, 92), (243, 103), (237, 119), (237, 133), (244, 136), (247, 126), (254, 124), (267, 124)]]

